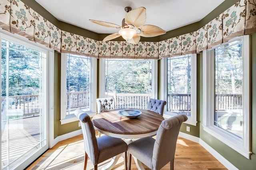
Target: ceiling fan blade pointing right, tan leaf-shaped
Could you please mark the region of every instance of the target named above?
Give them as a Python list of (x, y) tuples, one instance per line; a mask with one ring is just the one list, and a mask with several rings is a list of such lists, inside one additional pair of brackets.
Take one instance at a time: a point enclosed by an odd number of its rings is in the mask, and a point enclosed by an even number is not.
[(142, 37), (156, 37), (158, 35), (165, 34), (162, 28), (155, 26), (155, 25), (143, 25), (142, 32), (139, 34)]

